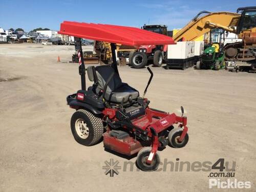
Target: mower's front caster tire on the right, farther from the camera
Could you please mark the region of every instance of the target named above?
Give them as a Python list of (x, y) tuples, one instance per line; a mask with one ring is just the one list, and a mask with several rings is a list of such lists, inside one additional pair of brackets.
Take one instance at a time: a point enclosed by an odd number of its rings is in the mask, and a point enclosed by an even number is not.
[(175, 128), (169, 132), (168, 141), (171, 146), (173, 146), (175, 148), (181, 148), (187, 144), (187, 142), (188, 142), (188, 134), (187, 133), (182, 142), (177, 141), (177, 139), (181, 136), (182, 132), (183, 132), (183, 129), (181, 129), (181, 128)]

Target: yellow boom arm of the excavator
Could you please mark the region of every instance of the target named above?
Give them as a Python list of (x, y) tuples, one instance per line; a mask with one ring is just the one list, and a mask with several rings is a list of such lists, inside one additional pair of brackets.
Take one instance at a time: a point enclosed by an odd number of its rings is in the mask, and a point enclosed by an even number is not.
[[(208, 13), (199, 17), (203, 13)], [(175, 41), (185, 40), (192, 41), (197, 37), (209, 32), (213, 28), (222, 28), (226, 31), (236, 33), (234, 27), (238, 26), (241, 14), (231, 12), (214, 12), (201, 11), (185, 27), (177, 32), (173, 39)]]

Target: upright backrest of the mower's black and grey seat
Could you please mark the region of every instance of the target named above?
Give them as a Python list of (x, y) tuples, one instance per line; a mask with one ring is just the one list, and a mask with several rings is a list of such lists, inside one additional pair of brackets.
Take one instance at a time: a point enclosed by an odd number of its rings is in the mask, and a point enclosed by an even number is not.
[(119, 75), (115, 72), (115, 70), (111, 66), (97, 66), (95, 68), (96, 75), (98, 77), (98, 87), (96, 88), (96, 92), (103, 90), (106, 81), (109, 79), (112, 73), (115, 73), (113, 78), (108, 84), (106, 88), (106, 94), (110, 94), (115, 89), (117, 89), (121, 84), (122, 80), (120, 79)]

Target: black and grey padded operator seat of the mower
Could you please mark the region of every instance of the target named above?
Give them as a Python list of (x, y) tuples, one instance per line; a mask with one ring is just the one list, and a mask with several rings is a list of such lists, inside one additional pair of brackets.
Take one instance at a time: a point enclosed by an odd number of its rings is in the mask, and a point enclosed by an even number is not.
[[(87, 68), (88, 77), (91, 81), (94, 80), (93, 68), (93, 66)], [(97, 94), (100, 94), (100, 92), (103, 91), (106, 81), (108, 81), (109, 77), (114, 73), (113, 78), (106, 88), (104, 96), (106, 100), (114, 103), (121, 103), (123, 100), (123, 102), (126, 103), (138, 98), (139, 92), (130, 87), (127, 83), (123, 83), (119, 75), (115, 73), (115, 70), (111, 66), (97, 66), (95, 72), (98, 78), (98, 85), (96, 87)]]

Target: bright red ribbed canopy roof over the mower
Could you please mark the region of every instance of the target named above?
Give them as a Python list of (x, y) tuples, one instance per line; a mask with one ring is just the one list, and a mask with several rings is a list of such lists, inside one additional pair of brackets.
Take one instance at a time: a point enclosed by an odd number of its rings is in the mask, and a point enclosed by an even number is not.
[(135, 27), (105, 24), (63, 22), (58, 33), (130, 46), (175, 44), (171, 37), (165, 35)]

